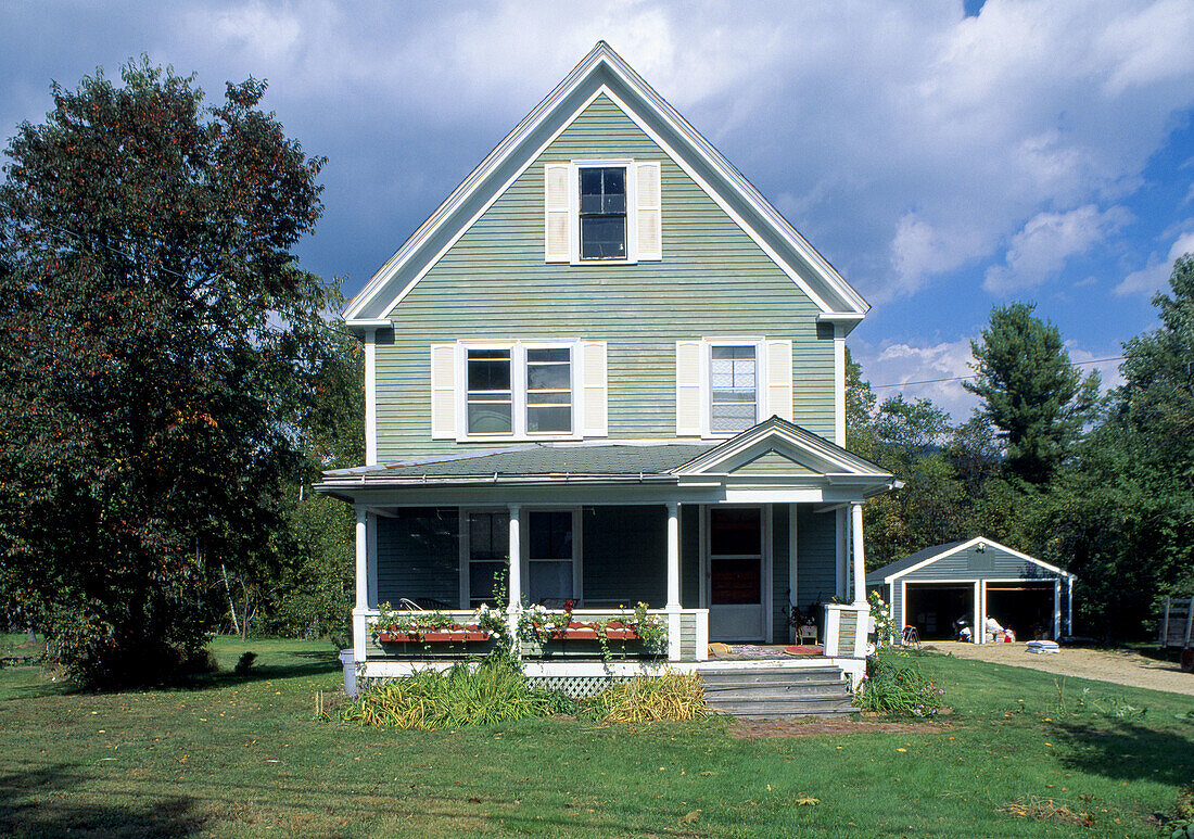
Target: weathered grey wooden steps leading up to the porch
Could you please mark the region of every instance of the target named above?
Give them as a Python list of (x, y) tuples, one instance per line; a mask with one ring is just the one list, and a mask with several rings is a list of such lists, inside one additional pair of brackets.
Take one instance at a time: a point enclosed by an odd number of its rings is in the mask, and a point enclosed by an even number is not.
[(839, 667), (698, 671), (709, 708), (741, 717), (856, 714)]

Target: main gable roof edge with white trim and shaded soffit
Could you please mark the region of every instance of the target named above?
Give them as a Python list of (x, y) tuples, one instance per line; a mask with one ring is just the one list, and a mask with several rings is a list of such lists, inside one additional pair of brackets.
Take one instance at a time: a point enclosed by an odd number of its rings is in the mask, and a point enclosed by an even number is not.
[(610, 97), (820, 308), (849, 332), (870, 308), (720, 152), (604, 41), (498, 143), (345, 308), (349, 327), (387, 316), (423, 274), (597, 95)]

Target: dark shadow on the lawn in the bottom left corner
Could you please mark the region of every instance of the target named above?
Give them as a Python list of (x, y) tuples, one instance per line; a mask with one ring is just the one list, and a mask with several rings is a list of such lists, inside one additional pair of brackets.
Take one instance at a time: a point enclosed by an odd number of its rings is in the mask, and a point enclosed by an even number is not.
[(80, 783), (68, 766), (0, 775), (0, 833), (6, 837), (189, 837), (207, 819), (187, 796), (165, 796), (136, 804), (79, 802)]

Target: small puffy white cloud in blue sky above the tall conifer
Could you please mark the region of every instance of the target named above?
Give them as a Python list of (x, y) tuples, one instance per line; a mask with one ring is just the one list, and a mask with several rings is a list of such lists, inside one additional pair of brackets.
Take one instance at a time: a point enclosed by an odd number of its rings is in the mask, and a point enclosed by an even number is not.
[(996, 295), (1040, 285), (1131, 220), (1121, 206), (1100, 211), (1094, 204), (1069, 212), (1038, 212), (1011, 237), (1004, 265), (986, 271), (983, 288)]

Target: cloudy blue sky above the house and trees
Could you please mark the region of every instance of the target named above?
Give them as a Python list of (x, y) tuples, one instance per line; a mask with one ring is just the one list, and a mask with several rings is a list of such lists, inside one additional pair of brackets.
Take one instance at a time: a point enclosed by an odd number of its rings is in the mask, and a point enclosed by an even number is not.
[(598, 39), (872, 303), (848, 345), (880, 396), (965, 419), (955, 381), (885, 385), (972, 372), (1011, 301), (1120, 356), (1194, 251), (1190, 0), (0, 0), (0, 135), (142, 54), (209, 100), (265, 79), (327, 158), (298, 254), (351, 295)]

